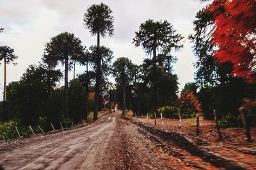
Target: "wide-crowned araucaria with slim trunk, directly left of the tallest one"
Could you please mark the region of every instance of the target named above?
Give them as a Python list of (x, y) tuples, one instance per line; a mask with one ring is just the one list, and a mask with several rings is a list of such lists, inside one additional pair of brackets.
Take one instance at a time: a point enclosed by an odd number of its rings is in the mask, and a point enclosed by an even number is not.
[(84, 47), (79, 38), (72, 33), (60, 33), (46, 43), (42, 58), (49, 68), (55, 68), (59, 63), (65, 65), (65, 114), (68, 114), (68, 69), (74, 61), (79, 61), (84, 55)]

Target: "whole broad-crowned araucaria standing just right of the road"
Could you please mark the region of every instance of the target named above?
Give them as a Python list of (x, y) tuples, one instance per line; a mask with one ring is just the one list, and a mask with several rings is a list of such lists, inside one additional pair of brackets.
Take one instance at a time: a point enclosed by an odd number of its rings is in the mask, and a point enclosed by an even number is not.
[(152, 56), (152, 112), (157, 112), (157, 57), (170, 56), (172, 50), (182, 47), (182, 35), (176, 33), (172, 24), (164, 21), (147, 20), (140, 25), (140, 30), (135, 32), (133, 43), (136, 47), (141, 46), (145, 52)]

